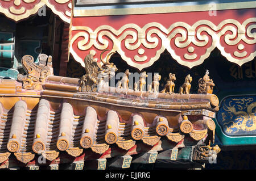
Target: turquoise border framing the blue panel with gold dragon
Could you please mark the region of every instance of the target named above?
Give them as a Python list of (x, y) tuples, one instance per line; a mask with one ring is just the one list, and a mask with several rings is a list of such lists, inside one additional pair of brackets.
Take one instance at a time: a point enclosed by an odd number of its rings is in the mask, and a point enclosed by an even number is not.
[[(217, 96), (218, 96), (218, 99), (220, 100), (220, 104), (221, 104), (222, 100), (228, 96), (255, 95), (255, 94), (256, 94), (256, 90), (253, 91), (248, 88), (248, 89), (243, 89), (243, 90), (221, 91), (219, 94), (217, 94)], [(218, 121), (216, 120), (216, 117), (213, 120), (216, 124), (216, 129), (215, 129), (216, 134), (224, 146), (255, 145), (256, 144), (256, 135), (255, 136), (228, 136), (222, 131), (221, 126), (218, 124)]]

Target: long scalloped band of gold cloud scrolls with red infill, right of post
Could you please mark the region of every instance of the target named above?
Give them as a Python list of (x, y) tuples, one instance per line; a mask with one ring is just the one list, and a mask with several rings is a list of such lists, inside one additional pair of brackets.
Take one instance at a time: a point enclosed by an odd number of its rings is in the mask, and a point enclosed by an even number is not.
[[(84, 66), (84, 56), (96, 50), (94, 58), (100, 62), (104, 49), (118, 52), (130, 66), (139, 70), (154, 64), (167, 50), (179, 64), (192, 68), (200, 65), (214, 48), (218, 48), (228, 61), (242, 65), (255, 57), (256, 18), (246, 19), (242, 24), (226, 19), (219, 24), (199, 20), (190, 26), (176, 22), (166, 28), (160, 23), (125, 24), (118, 30), (112, 26), (73, 26), (70, 52)], [(105, 54), (106, 58), (106, 54)]]

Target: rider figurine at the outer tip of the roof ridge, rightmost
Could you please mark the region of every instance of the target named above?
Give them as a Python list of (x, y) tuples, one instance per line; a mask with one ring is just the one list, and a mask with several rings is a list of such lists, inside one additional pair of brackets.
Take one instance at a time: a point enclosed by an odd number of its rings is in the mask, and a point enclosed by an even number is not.
[(198, 81), (199, 89), (197, 92), (199, 94), (212, 94), (213, 87), (215, 84), (213, 83), (213, 80), (209, 77), (209, 70), (205, 72), (205, 75), (203, 78), (200, 78)]

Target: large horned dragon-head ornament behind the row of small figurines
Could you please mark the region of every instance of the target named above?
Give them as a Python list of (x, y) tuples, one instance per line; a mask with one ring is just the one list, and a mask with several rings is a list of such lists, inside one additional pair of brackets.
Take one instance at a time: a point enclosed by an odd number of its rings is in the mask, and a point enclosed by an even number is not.
[(84, 58), (86, 74), (80, 79), (79, 91), (96, 92), (98, 90), (98, 85), (108, 82), (115, 71), (117, 71), (116, 66), (109, 62), (109, 56), (114, 52), (109, 53), (106, 62), (102, 60), (102, 54), (106, 50), (101, 53), (101, 62), (104, 64), (103, 66), (101, 66), (97, 60), (94, 60), (93, 56), (96, 53), (94, 50), (90, 50), (90, 53)]

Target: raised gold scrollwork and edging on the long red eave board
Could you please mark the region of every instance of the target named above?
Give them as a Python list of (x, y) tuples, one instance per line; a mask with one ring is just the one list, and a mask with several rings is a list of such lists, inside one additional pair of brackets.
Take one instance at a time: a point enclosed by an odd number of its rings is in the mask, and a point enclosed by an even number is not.
[[(198, 22), (194, 23), (190, 26), (184, 22), (176, 22), (171, 24), (169, 28), (164, 27), (160, 23), (152, 22), (146, 24), (144, 27), (139, 27), (137, 24), (125, 24), (119, 30), (115, 30), (113, 27), (108, 25), (102, 25), (96, 28), (96, 30), (92, 30), (89, 27), (71, 27), (71, 31), (81, 30), (81, 32), (76, 33), (71, 39), (71, 47), (70, 52), (72, 53), (73, 57), (77, 62), (79, 62), (83, 67), (84, 61), (83, 57), (79, 57), (75, 50), (73, 50), (72, 45), (78, 37), (84, 37), (83, 40), (80, 40), (77, 43), (77, 48), (79, 50), (89, 50), (91, 47), (96, 47), (99, 50), (104, 50), (108, 48), (109, 42), (108, 40), (104, 39), (104, 36), (108, 36), (109, 39), (113, 41), (113, 48), (112, 52), (118, 52), (122, 59), (127, 62), (130, 66), (133, 66), (139, 70), (143, 68), (147, 68), (151, 66), (158, 58), (160, 54), (163, 53), (165, 49), (171, 54), (171, 56), (179, 62), (179, 64), (188, 66), (192, 68), (193, 66), (200, 65), (204, 62), (205, 58), (208, 58), (210, 52), (214, 48), (218, 48), (223, 56), (225, 56), (228, 61), (234, 62), (238, 65), (242, 65), (256, 56), (256, 51), (252, 52), (249, 56), (243, 59), (237, 59), (232, 56), (232, 54), (225, 52), (225, 47), (222, 47), (220, 43), (221, 36), (224, 36), (224, 41), (227, 45), (236, 45), (241, 40), (243, 40), (246, 44), (255, 44), (256, 38), (250, 30), (255, 28), (255, 24), (249, 24), (251, 22), (256, 22), (256, 18), (249, 18), (246, 19), (242, 24), (234, 19), (226, 19), (219, 23), (217, 26), (210, 22), (209, 20), (199, 20)], [(233, 26), (229, 25), (233, 24), (237, 27), (234, 28)], [(249, 24), (249, 26), (247, 26)], [(202, 26), (204, 25), (204, 26)], [(198, 28), (199, 27), (199, 28)], [(146, 31), (148, 28), (152, 28), (150, 31)], [(187, 30), (185, 31), (184, 28)], [(127, 29), (127, 30), (126, 30)], [(134, 31), (133, 31), (133, 30)], [(174, 31), (172, 31), (174, 30)], [(225, 34), (227, 31), (231, 31), (232, 35)], [(190, 32), (190, 33), (188, 33)], [(193, 36), (192, 36), (193, 32)], [(187, 61), (187, 60), (195, 60), (198, 56), (197, 54), (193, 54), (190, 56), (189, 54), (185, 54), (184, 58), (180, 57), (176, 54), (175, 50), (172, 49), (170, 45), (171, 39), (174, 39), (176, 34), (181, 34), (180, 37), (176, 37), (174, 40), (175, 46), (177, 48), (185, 48), (188, 47), (189, 44), (193, 43), (197, 47), (204, 47), (209, 44), (209, 37), (207, 35), (202, 35), (201, 32), (207, 32), (211, 38), (212, 43), (206, 49), (206, 52), (200, 56), (199, 60), (196, 61)], [(152, 34), (158, 35), (158, 37), (151, 37)], [(130, 38), (127, 38), (127, 35), (130, 35)], [(167, 36), (168, 35), (168, 36)], [(251, 39), (248, 39), (250, 37)], [(155, 56), (151, 57), (149, 61), (144, 64), (138, 64), (137, 61), (144, 60), (146, 55), (139, 57), (136, 55), (134, 57), (135, 61), (131, 60), (131, 57), (127, 57), (125, 55), (125, 50), (121, 48), (121, 42), (124, 40), (125, 48), (128, 50), (136, 50), (139, 46), (143, 45), (147, 49), (154, 49), (159, 44), (159, 40), (162, 42), (161, 47), (156, 50)], [(200, 40), (200, 41), (198, 41)], [(241, 47), (241, 46), (240, 46)], [(188, 47), (188, 52), (194, 52), (193, 47)], [(138, 51), (138, 54), (141, 54), (141, 50)], [(138, 59), (139, 58), (139, 59)]]

